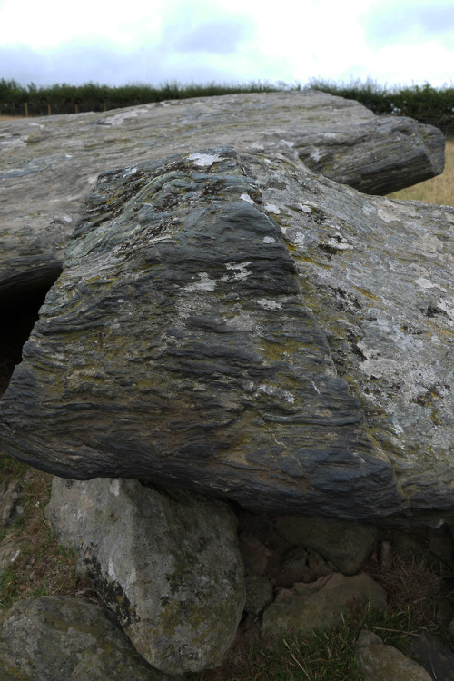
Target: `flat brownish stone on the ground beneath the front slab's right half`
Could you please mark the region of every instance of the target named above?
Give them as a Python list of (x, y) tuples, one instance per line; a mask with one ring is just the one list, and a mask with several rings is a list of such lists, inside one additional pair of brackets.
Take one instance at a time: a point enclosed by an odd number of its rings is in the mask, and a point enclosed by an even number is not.
[(278, 639), (288, 632), (311, 634), (341, 623), (353, 603), (382, 610), (386, 593), (369, 575), (344, 577), (334, 572), (316, 582), (301, 582), (285, 589), (263, 613), (263, 634)]

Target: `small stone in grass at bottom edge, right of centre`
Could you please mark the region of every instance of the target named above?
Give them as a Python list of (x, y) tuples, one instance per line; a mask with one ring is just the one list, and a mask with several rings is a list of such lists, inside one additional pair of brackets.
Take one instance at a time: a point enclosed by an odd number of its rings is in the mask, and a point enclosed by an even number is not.
[(360, 632), (357, 657), (364, 681), (432, 681), (424, 667), (371, 631)]

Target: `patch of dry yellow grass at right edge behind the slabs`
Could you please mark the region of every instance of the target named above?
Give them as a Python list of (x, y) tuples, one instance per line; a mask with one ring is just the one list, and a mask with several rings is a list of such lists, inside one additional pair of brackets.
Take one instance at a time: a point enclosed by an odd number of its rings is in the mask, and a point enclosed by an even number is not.
[(454, 140), (446, 142), (446, 164), (441, 175), (426, 182), (414, 184), (408, 189), (390, 194), (390, 199), (422, 201), (442, 206), (454, 206)]

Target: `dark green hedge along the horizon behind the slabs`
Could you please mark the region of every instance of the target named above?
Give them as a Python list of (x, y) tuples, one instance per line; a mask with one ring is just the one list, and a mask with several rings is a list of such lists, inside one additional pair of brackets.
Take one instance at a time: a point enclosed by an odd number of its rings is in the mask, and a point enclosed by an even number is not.
[(46, 115), (108, 111), (163, 100), (210, 97), (219, 94), (263, 93), (280, 91), (321, 90), (367, 106), (374, 114), (404, 115), (420, 123), (439, 127), (454, 135), (454, 87), (432, 87), (430, 84), (387, 87), (368, 80), (338, 84), (311, 80), (308, 84), (288, 85), (252, 82), (249, 84), (179, 84), (169, 82), (154, 86), (125, 84), (109, 86), (95, 83), (83, 85), (22, 85), (15, 80), (0, 79), (0, 114)]

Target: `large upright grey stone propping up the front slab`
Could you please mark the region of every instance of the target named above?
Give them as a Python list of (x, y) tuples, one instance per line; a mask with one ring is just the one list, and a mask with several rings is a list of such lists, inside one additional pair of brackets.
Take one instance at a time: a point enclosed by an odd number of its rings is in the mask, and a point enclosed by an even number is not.
[(55, 478), (48, 518), (153, 666), (180, 674), (222, 663), (245, 602), (225, 504), (136, 480)]

